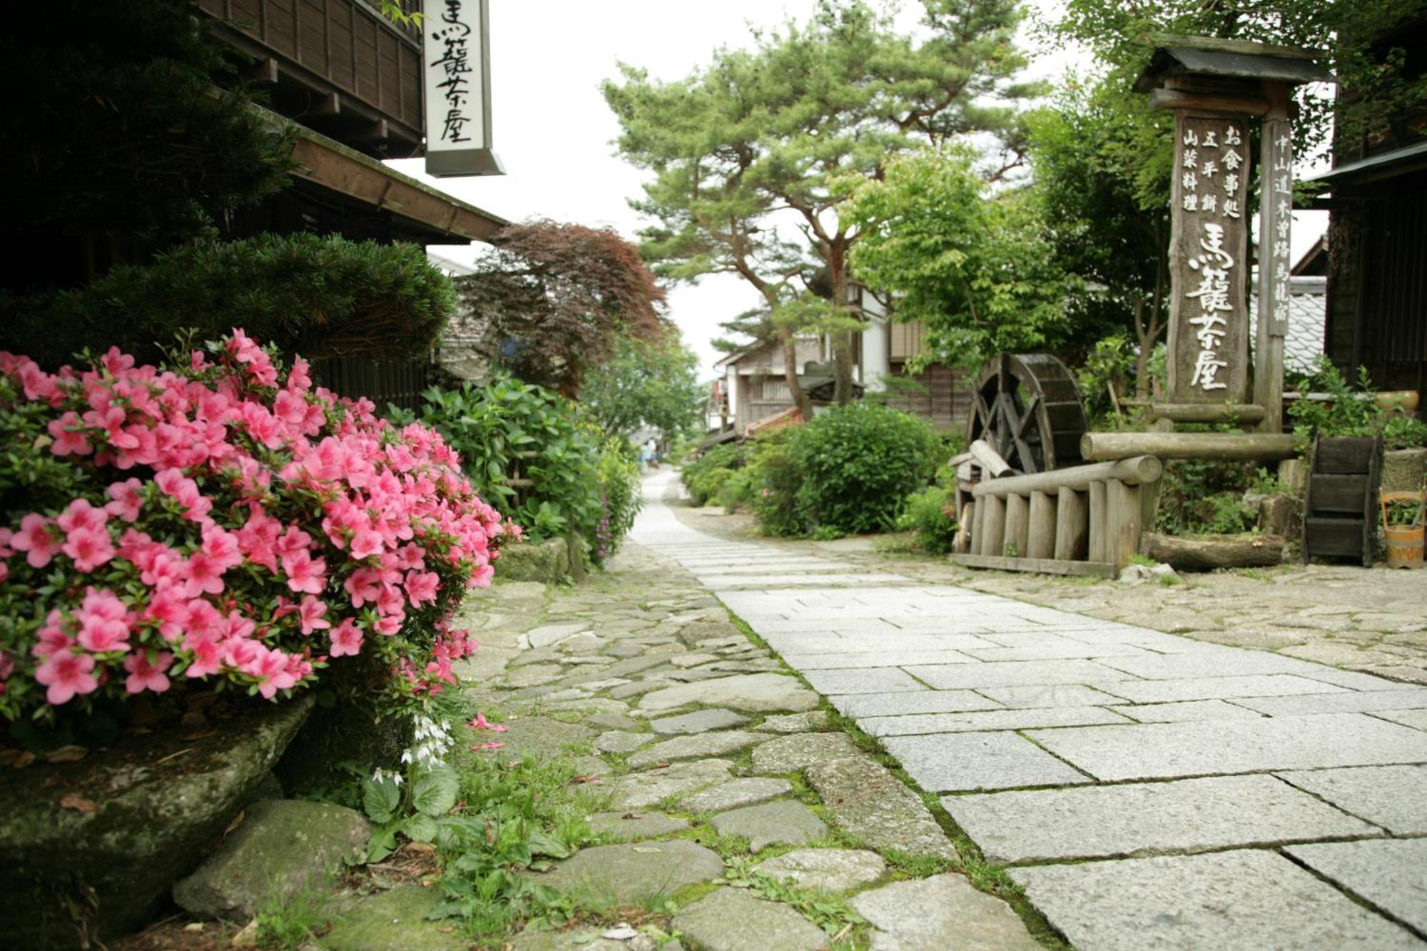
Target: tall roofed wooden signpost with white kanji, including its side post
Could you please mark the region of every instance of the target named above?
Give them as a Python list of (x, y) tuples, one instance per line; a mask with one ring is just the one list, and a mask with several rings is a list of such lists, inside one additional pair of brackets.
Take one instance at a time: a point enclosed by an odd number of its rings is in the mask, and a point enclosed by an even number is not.
[[(1289, 317), (1293, 140), (1289, 91), (1329, 81), (1314, 50), (1159, 37), (1136, 80), (1174, 111), (1170, 204), (1169, 397), (1156, 418), (1257, 423), (1283, 431), (1283, 338)], [(1259, 300), (1249, 360), (1249, 181), (1259, 119)], [(1251, 403), (1249, 401), (1251, 397)]]

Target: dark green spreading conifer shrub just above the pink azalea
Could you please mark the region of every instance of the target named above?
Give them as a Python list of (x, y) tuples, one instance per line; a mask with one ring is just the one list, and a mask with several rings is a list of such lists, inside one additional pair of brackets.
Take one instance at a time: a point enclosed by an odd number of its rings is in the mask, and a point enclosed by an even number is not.
[(228, 327), (308, 358), (425, 353), (455, 303), (417, 244), (315, 234), (198, 243), (151, 264), (116, 267), (81, 290), (13, 301), (0, 346), (56, 367), (111, 344), (140, 363), (177, 334)]

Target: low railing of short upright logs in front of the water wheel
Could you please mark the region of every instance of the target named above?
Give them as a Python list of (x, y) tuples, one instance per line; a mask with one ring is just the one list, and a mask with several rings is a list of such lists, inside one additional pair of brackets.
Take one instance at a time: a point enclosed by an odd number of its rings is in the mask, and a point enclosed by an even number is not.
[(1114, 577), (1152, 524), (1163, 464), (1137, 456), (972, 487), (970, 533), (952, 560), (972, 568)]

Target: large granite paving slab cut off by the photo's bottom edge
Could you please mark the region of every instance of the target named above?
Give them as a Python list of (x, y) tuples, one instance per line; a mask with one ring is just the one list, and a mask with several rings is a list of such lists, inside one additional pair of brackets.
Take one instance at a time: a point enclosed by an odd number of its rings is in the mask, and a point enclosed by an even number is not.
[(1406, 928), (1271, 851), (1013, 868), (1080, 951), (1421, 951)]

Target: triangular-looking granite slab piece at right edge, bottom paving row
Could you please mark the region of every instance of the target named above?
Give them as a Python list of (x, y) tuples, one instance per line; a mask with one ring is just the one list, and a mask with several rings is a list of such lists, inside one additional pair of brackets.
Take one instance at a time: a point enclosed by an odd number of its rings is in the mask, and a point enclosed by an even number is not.
[(1427, 840), (1320, 842), (1284, 851), (1393, 918), (1427, 931)]

